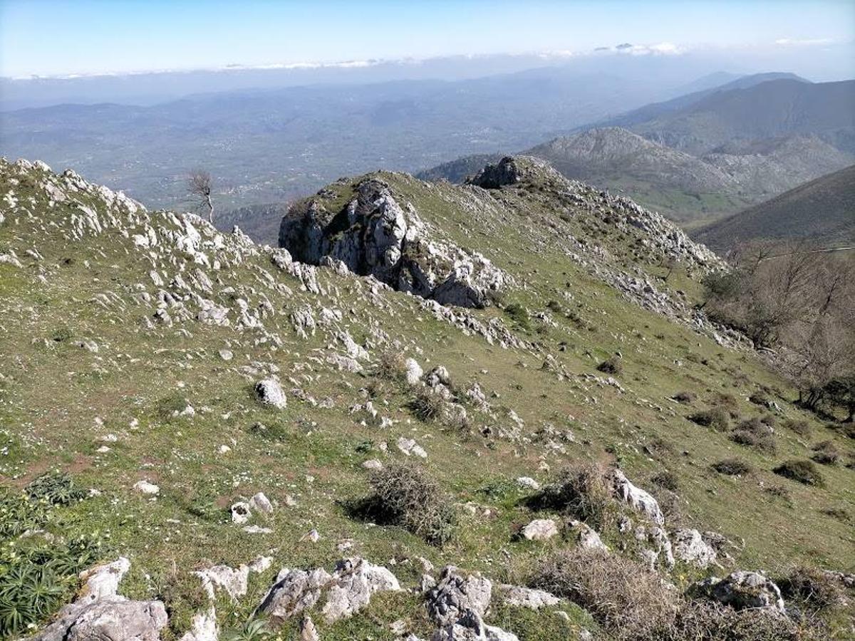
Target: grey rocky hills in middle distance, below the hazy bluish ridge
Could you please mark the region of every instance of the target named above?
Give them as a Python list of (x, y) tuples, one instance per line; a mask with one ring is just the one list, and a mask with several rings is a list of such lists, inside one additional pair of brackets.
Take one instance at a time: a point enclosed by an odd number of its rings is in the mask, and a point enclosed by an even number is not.
[[(616, 126), (554, 138), (525, 153), (549, 161), (570, 179), (626, 194), (689, 228), (855, 160), (816, 135), (722, 144), (698, 157)], [(463, 182), (498, 156), (463, 156), (417, 175)]]

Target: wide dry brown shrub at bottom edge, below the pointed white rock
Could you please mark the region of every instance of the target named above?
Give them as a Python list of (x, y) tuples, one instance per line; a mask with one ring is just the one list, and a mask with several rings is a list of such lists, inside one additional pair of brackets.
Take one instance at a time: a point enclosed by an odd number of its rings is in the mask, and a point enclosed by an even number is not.
[(643, 563), (580, 548), (547, 556), (531, 583), (587, 609), (616, 639), (661, 638), (680, 598)]

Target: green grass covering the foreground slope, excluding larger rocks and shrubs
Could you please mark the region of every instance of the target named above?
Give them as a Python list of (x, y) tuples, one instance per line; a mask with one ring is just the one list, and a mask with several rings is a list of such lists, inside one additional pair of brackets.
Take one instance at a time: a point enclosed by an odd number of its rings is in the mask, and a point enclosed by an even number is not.
[[(228, 625), (250, 615), (279, 567), (329, 567), (342, 556), (336, 544), (343, 538), (354, 541), (347, 554), (386, 565), (398, 559), (392, 569), (409, 585), (418, 573), (402, 560), (416, 555), (438, 565), (451, 562), (481, 570), (493, 579), (518, 581), (521, 577), (514, 568), (525, 567), (549, 546), (511, 538), (515, 527), (533, 514), (522, 507), (523, 493), (509, 480), (522, 474), (545, 480), (545, 473), (537, 471), (541, 457), (553, 470), (575, 458), (616, 458), (640, 485), (649, 485), (652, 474), (668, 468), (680, 481), (686, 523), (745, 539), (746, 548), (738, 555), (740, 567), (774, 569), (805, 561), (852, 569), (851, 526), (820, 512), (839, 507), (852, 513), (851, 470), (823, 468), (828, 489), (779, 479), (770, 468), (787, 457), (805, 457), (807, 442), (779, 428), (778, 453), (759, 455), (687, 421), (684, 416), (691, 409), (668, 398), (676, 391), (694, 391), (700, 399), (695, 405), (702, 408), (718, 392), (727, 392), (739, 398), (740, 414), (750, 416), (759, 412), (746, 397), (758, 385), (779, 389), (782, 398), (792, 397), (792, 391), (753, 356), (723, 349), (635, 307), (569, 262), (561, 250), (562, 238), (569, 232), (581, 233), (587, 222), (579, 216), (570, 221), (557, 218), (548, 192), (503, 191), (498, 198), (506, 208), (496, 209), (495, 215), (473, 216), (460, 203), (469, 198), (467, 194), (485, 197), (475, 188), (428, 186), (402, 174), (381, 177), (402, 201), (416, 204), (422, 217), (441, 226), (459, 244), (483, 251), (513, 273), (521, 286), (510, 292), (509, 302), (545, 311), (545, 303), (554, 299), (575, 310), (587, 328), (550, 314), (556, 327), (534, 321), (536, 331), (526, 334), (540, 343), (540, 350), (503, 350), (436, 321), (411, 297), (394, 292), (372, 297), (364, 280), (321, 270), (321, 282), (333, 294), (299, 291), (296, 279), (274, 273), (293, 291), (292, 296), (273, 300), (280, 313), (265, 321), (283, 339), (279, 350), (255, 344), (251, 331), (195, 321), (148, 331), (141, 321), (153, 305), (133, 305), (129, 299), (134, 284), (148, 282), (149, 266), (139, 252), (112, 229), (96, 238), (57, 243), (52, 225), (65, 225), (61, 212), (47, 210), (44, 194), (22, 183), (14, 191), (22, 202), (30, 195), (36, 198), (28, 205), (34, 218), (7, 212), (0, 226), (0, 244), (18, 256), (35, 248), (44, 260), (37, 263), (24, 257), (23, 269), (0, 265), (4, 319), (0, 425), (10, 444), (9, 454), (0, 459), (3, 484), (21, 486), (45, 469), (63, 468), (80, 484), (100, 490), (101, 496), (68, 509), (74, 517), (71, 530), (97, 530), (109, 537), (112, 550), (131, 556), (132, 573), (122, 585), (123, 592), (129, 597), (166, 598), (176, 636), (203, 603), (190, 570), (212, 562), (236, 565), (272, 550), (274, 567), (251, 579), (250, 595), (240, 603), (218, 604), (221, 623)], [(9, 173), (3, 171), (0, 191), (9, 188)], [(350, 184), (333, 188), (345, 202)], [(626, 247), (626, 240), (608, 232), (600, 238), (615, 255)], [(74, 262), (63, 265), (68, 257)], [(249, 260), (231, 273), (221, 273), (223, 285), (259, 287), (256, 264), (269, 268), (263, 256)], [(40, 268), (46, 272), (45, 282), (36, 278)], [(657, 271), (653, 266), (646, 269)], [(675, 284), (691, 291), (691, 279), (676, 278)], [(109, 303), (106, 309), (90, 303), (102, 292), (116, 292), (124, 309), (118, 303)], [(391, 384), (386, 384), (375, 404), (395, 424), (384, 431), (360, 425), (348, 408), (362, 402), (359, 390), (368, 381), (358, 374), (332, 372), (315, 359), (327, 353), (332, 339), (322, 329), (310, 340), (292, 331), (287, 314), (302, 303), (315, 309), (321, 305), (341, 309), (343, 326), (357, 342), (369, 336), (370, 326), (379, 326), (401, 341), (401, 349), (426, 369), (444, 364), (457, 385), (478, 380), (488, 395), (498, 394), (491, 402), (515, 410), (526, 421), (525, 432), (548, 421), (559, 429), (573, 430), (576, 442), (567, 445), (566, 455), (559, 455), (540, 444), (449, 433), (412, 418), (406, 409), (411, 392)], [(495, 309), (478, 313), (498, 314)], [(182, 327), (190, 334), (182, 335)], [(74, 346), (73, 339), (52, 339), (63, 334), (94, 338), (101, 349), (91, 354)], [(42, 338), (50, 347), (40, 342)], [(562, 342), (568, 344), (566, 351), (558, 350)], [(369, 345), (376, 346), (374, 356), (381, 349), (378, 343), (369, 339)], [(225, 346), (234, 351), (235, 361), (223, 362), (217, 356)], [(583, 378), (558, 379), (541, 369), (545, 355), (551, 354), (570, 373), (595, 373), (598, 362), (616, 350), (624, 356), (625, 394)], [(239, 365), (256, 360), (274, 362), (283, 381), (293, 377), (319, 399), (333, 397), (335, 407), (316, 409), (290, 397), (284, 411), (260, 408), (251, 397), (252, 379), (237, 371)], [(192, 403), (197, 414), (170, 418), (164, 409), (176, 406), (179, 398)], [(788, 406), (787, 415), (811, 420)], [(130, 426), (133, 419), (139, 421), (135, 428)], [(251, 429), (257, 421), (268, 426), (266, 435)], [(499, 413), (497, 422), (503, 421)], [(490, 422), (480, 416), (478, 426)], [(106, 433), (115, 433), (119, 440), (109, 444), (109, 452), (98, 454), (98, 439)], [(445, 548), (432, 548), (397, 528), (352, 520), (341, 506), (367, 489), (363, 460), (404, 459), (393, 446), (399, 435), (416, 438), (428, 450), (426, 466), (457, 501), (475, 501), (490, 510), (487, 517), (464, 515), (457, 539)], [(823, 438), (839, 440), (815, 425), (812, 440)], [(669, 444), (669, 451), (653, 460), (643, 448), (660, 439)], [(380, 441), (390, 444), (388, 455), (376, 450)], [(220, 444), (232, 450), (219, 454)], [(373, 448), (365, 451), (370, 444)], [(734, 454), (754, 463), (760, 469), (758, 475), (729, 479), (708, 471), (711, 462)], [(156, 500), (131, 490), (142, 478), (161, 486)], [(768, 485), (786, 485), (791, 500), (765, 493)], [(486, 492), (488, 488), (492, 491)], [(280, 501), (280, 508), (264, 524), (273, 528), (272, 534), (249, 535), (228, 522), (227, 506), (255, 491)], [(286, 494), (297, 499), (296, 507), (284, 506)], [(321, 541), (301, 542), (312, 527), (321, 532)], [(369, 633), (373, 638), (393, 638), (380, 624), (404, 616), (411, 629), (427, 635), (429, 626), (420, 618), (422, 610), (416, 603), (416, 597), (404, 594), (387, 596), (334, 631), (325, 632), (321, 626), (321, 634), (324, 638)], [(569, 623), (547, 615), (531, 620), (527, 613), (502, 609), (493, 616), (503, 624), (515, 621), (516, 626), (508, 626), (520, 638), (556, 638), (571, 633), (579, 622), (589, 625), (584, 615), (570, 611)]]

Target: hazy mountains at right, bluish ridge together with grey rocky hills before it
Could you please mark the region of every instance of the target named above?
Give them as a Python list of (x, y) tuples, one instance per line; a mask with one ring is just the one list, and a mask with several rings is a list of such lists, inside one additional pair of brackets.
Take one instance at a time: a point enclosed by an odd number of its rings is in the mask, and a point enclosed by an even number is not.
[[(855, 81), (758, 74), (603, 122), (522, 153), (693, 226), (855, 162)], [(419, 176), (457, 182), (491, 158)]]

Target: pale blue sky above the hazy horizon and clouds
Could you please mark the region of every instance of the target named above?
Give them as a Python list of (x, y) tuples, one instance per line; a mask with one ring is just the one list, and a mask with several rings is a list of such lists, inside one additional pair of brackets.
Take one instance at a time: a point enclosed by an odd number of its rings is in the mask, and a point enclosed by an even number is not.
[(13, 77), (589, 51), (623, 42), (773, 53), (842, 46), (851, 55), (853, 40), (852, 0), (0, 0), (0, 75)]

